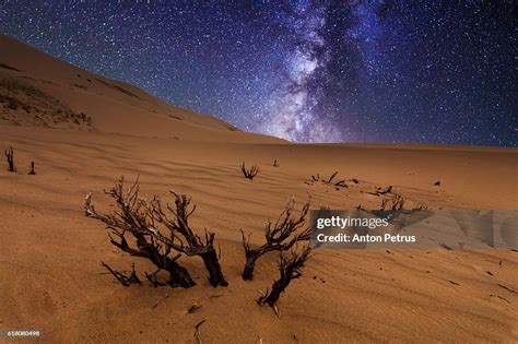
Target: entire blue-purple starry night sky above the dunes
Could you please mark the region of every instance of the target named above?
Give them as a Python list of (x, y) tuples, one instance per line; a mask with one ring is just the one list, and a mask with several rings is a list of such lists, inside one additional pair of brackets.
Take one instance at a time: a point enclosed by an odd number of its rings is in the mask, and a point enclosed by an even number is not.
[(291, 141), (516, 146), (515, 7), (0, 0), (0, 32)]

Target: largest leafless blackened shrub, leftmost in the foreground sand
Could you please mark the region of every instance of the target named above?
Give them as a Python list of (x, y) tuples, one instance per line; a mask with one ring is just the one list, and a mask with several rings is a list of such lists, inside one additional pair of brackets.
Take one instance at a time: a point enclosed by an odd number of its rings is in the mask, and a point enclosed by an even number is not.
[[(167, 205), (167, 212), (173, 214), (169, 218), (162, 209), (158, 197), (152, 200), (139, 197), (138, 180), (125, 191), (121, 177), (115, 187), (105, 193), (116, 201), (118, 211), (109, 214), (97, 213), (92, 205), (91, 193), (86, 195), (84, 210), (86, 216), (106, 225), (114, 246), (133, 257), (150, 260), (158, 271), (167, 271), (169, 273), (167, 284), (172, 287), (188, 288), (196, 285), (187, 269), (178, 263), (181, 254), (199, 256), (203, 260), (212, 286), (227, 285), (214, 249), (214, 234), (205, 230), (202, 240), (188, 224), (188, 217), (196, 209), (195, 206), (189, 209), (190, 198), (172, 191), (175, 206)], [(146, 275), (150, 281), (155, 276), (156, 272)], [(157, 285), (156, 278), (154, 281)]]

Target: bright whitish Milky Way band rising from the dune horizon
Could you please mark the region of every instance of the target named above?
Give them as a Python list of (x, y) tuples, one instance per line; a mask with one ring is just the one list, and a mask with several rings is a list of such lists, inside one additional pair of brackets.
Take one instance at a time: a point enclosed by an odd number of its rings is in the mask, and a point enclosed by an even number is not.
[(325, 48), (319, 32), (326, 20), (325, 8), (298, 3), (294, 8), (293, 27), (298, 44), (289, 51), (283, 87), (269, 100), (270, 115), (262, 127), (269, 134), (302, 142), (342, 141), (341, 132), (331, 121), (315, 111), (322, 90), (311, 87), (317, 70), (326, 69), (327, 60), (316, 51)]

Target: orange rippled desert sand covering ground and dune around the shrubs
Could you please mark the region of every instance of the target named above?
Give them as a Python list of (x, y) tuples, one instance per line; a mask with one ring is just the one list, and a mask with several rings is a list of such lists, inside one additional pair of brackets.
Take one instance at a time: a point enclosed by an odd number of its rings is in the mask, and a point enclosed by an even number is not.
[[(195, 325), (205, 320), (199, 332), (208, 343), (518, 341), (517, 251), (438, 242), (431, 250), (315, 250), (281, 297), (278, 319), (255, 301), (278, 277), (278, 254), (243, 281), (239, 232), (259, 245), (267, 221), (292, 197), (298, 209), (309, 195), (314, 209), (377, 209), (380, 198), (367, 192), (389, 185), (410, 206), (516, 209), (517, 150), (293, 144), (165, 104), (5, 36), (0, 63), (0, 147), (14, 147), (17, 166), (9, 173), (0, 161), (0, 329), (38, 329), (38, 341), (52, 343), (183, 343), (196, 342)], [(252, 181), (242, 162), (259, 166)], [(340, 190), (310, 182), (335, 170), (360, 182)], [(211, 287), (198, 258), (180, 259), (192, 288), (114, 283), (101, 261), (153, 270), (84, 216), (87, 192), (101, 210), (114, 210), (103, 189), (121, 175), (139, 177), (142, 195), (172, 201), (174, 189), (192, 197), (192, 225), (216, 234), (228, 287)], [(195, 303), (202, 307), (189, 313)]]

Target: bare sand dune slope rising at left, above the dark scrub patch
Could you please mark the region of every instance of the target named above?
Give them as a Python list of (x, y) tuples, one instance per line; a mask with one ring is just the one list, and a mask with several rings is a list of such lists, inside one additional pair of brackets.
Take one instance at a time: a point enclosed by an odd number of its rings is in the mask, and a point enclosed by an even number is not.
[[(90, 73), (0, 35), (0, 93), (5, 80), (40, 90), (74, 112), (85, 114), (92, 118), (94, 129), (102, 132), (197, 141), (283, 142), (242, 132), (212, 116), (172, 106), (136, 86)], [(4, 112), (0, 105), (0, 122), (7, 121), (2, 120)], [(25, 117), (35, 114), (21, 112)], [(48, 121), (46, 127), (56, 124)]]

